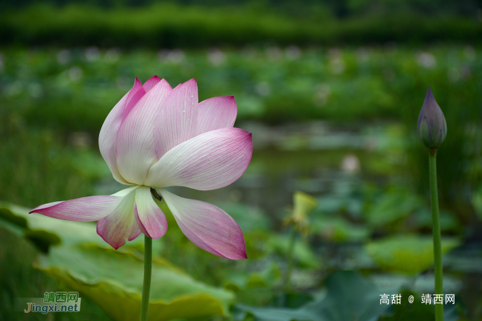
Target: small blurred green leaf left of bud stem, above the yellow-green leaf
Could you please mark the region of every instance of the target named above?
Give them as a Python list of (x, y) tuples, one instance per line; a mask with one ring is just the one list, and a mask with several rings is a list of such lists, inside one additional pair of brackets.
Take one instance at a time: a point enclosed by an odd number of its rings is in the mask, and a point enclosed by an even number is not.
[(386, 192), (366, 212), (366, 220), (372, 226), (380, 226), (406, 217), (413, 210), (420, 208), (423, 201), (404, 190)]

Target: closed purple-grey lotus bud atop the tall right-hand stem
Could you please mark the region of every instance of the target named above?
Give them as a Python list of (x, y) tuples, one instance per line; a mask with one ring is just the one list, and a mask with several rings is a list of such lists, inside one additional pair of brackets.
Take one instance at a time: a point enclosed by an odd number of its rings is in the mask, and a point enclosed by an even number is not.
[(417, 124), (420, 140), (431, 150), (437, 149), (447, 135), (446, 118), (428, 87)]

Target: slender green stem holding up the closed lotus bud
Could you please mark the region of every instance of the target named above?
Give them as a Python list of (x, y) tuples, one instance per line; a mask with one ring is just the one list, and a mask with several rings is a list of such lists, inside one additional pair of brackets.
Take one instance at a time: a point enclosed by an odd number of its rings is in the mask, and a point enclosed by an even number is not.
[[(443, 294), (442, 246), (440, 236), (439, 196), (437, 194), (437, 149), (430, 150), (430, 205), (434, 237), (435, 294)], [(435, 305), (435, 321), (443, 321), (443, 305)]]

